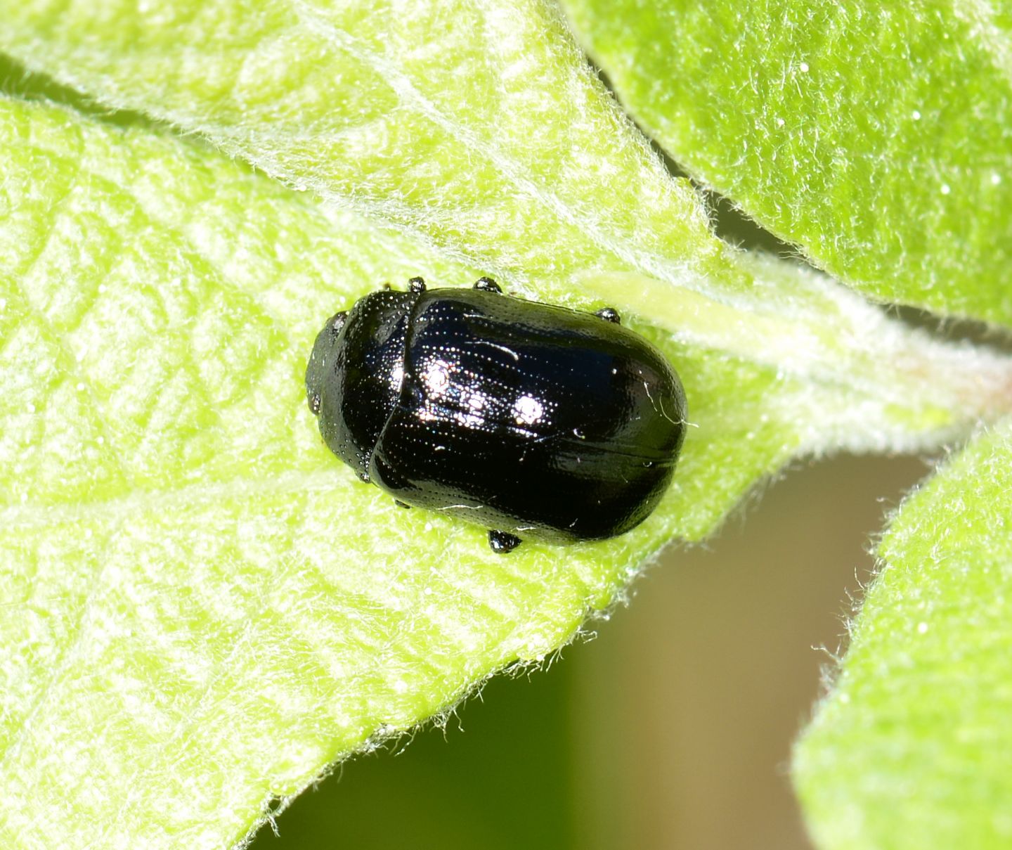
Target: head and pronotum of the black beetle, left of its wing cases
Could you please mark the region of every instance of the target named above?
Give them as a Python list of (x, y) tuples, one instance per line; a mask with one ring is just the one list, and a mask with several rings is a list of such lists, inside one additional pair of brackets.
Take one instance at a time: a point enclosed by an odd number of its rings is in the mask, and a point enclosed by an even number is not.
[(419, 292), (384, 290), (327, 320), (306, 366), (306, 398), (324, 441), (363, 480), (404, 378), (411, 308)]

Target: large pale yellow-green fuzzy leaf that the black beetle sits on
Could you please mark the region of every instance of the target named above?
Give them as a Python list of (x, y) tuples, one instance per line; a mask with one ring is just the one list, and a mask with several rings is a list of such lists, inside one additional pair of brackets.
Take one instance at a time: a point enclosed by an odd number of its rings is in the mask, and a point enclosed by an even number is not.
[(645, 327), (698, 426), (664, 505), (494, 556), (354, 480), (302, 380), (375, 281), (476, 271), (198, 145), (0, 115), (5, 847), (235, 844), (335, 759), (553, 652), (814, 427), (797, 376)]

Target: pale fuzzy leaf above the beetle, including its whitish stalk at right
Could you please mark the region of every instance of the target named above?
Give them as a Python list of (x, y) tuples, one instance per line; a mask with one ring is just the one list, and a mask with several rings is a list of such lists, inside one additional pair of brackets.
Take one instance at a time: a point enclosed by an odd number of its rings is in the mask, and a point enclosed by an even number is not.
[(99, 102), (205, 136), (530, 294), (582, 290), (798, 378), (779, 414), (805, 450), (930, 444), (1007, 406), (1007, 365), (936, 349), (827, 278), (718, 239), (541, 0), (9, 6), (0, 47)]

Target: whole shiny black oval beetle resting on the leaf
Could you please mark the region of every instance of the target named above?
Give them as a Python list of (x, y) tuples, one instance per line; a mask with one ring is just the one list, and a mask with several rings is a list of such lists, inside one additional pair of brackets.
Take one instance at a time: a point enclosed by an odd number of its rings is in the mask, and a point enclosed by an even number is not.
[(520, 537), (628, 531), (671, 483), (685, 436), (674, 369), (618, 314), (473, 289), (385, 289), (327, 321), (306, 393), (330, 449), (399, 505)]

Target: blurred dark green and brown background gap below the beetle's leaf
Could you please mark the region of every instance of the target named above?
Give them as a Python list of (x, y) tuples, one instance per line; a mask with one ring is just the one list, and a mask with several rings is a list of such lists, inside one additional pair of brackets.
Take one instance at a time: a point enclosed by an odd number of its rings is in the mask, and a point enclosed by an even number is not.
[(254, 850), (810, 847), (787, 759), (829, 662), (815, 648), (838, 648), (871, 533), (926, 473), (792, 471), (709, 545), (669, 548), (594, 641), (347, 762)]

